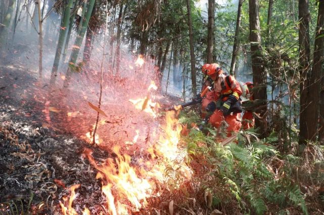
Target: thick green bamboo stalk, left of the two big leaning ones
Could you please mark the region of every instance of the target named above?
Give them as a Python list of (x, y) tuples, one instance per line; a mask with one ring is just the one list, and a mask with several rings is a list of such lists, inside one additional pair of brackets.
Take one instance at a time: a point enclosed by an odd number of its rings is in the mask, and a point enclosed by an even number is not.
[(61, 59), (61, 53), (62, 53), (62, 48), (64, 44), (64, 39), (65, 39), (65, 33), (66, 33), (66, 28), (69, 24), (70, 20), (70, 8), (72, 7), (73, 0), (69, 0), (69, 2), (65, 1), (65, 7), (64, 7), (64, 16), (63, 16), (63, 22), (62, 26), (60, 28), (60, 35), (59, 35), (59, 40), (58, 40), (58, 45), (56, 48), (56, 53), (55, 53), (55, 58), (54, 58), (54, 63), (53, 63), (53, 68), (52, 68), (52, 74), (51, 74), (51, 85), (55, 84), (56, 81), (56, 76), (57, 76), (57, 71), (60, 65), (60, 59)]

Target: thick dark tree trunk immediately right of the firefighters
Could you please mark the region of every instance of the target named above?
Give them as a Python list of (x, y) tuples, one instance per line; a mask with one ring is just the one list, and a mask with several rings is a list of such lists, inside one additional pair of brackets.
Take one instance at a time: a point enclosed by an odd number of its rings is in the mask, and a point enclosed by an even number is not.
[(260, 118), (256, 118), (256, 127), (259, 129), (261, 137), (267, 134), (267, 122), (265, 113), (267, 111), (266, 101), (266, 73), (262, 64), (262, 47), (260, 36), (260, 22), (259, 22), (259, 4), (258, 0), (249, 0), (249, 20), (250, 20), (250, 42), (251, 42), (251, 59), (253, 82), (255, 91), (253, 96), (255, 100), (260, 101), (260, 106), (256, 113)]

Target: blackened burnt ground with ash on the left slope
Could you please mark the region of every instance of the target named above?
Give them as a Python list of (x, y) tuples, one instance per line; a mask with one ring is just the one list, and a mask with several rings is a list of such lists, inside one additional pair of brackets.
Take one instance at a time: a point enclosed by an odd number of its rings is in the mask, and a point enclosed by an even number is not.
[[(0, 211), (8, 212), (10, 206), (21, 211), (23, 206), (36, 214), (59, 213), (59, 200), (69, 197), (68, 187), (74, 184), (81, 184), (73, 202), (78, 213), (84, 206), (92, 214), (104, 211), (102, 182), (96, 180), (97, 170), (83, 152), (92, 150), (97, 161), (114, 154), (64, 128), (49, 126), (40, 108), (44, 104), (31, 93), (36, 85), (35, 72), (23, 66), (0, 66)], [(132, 160), (135, 163), (136, 158)], [(157, 199), (152, 201), (159, 205)]]

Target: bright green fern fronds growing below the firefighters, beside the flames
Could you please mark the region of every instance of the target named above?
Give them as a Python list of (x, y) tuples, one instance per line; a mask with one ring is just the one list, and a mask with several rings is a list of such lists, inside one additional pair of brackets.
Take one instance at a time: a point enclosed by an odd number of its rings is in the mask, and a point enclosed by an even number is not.
[[(182, 122), (190, 122), (196, 117), (197, 115), (190, 113), (183, 114), (180, 119)], [(253, 129), (241, 131), (238, 145), (229, 144), (222, 147), (215, 142), (215, 130), (210, 131), (205, 135), (192, 128), (189, 135), (183, 136), (182, 139), (187, 142), (191, 160), (203, 155), (212, 167), (211, 176), (219, 178), (225, 184), (241, 206), (242, 213), (252, 210), (256, 214), (265, 214), (273, 211), (273, 205), (277, 205), (279, 210), (274, 212), (285, 213), (285, 208), (294, 207), (308, 214), (305, 196), (301, 193), (299, 185), (293, 182), (292, 172), (284, 168), (300, 165), (301, 159), (292, 154), (283, 157), (284, 160), (280, 159), (282, 156), (272, 146), (278, 141), (276, 132), (272, 132), (267, 138), (258, 139)], [(282, 177), (281, 172), (276, 171), (285, 171), (286, 174)], [(217, 193), (217, 190), (214, 193)], [(224, 201), (221, 196), (217, 194), (217, 202)]]

